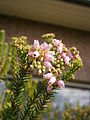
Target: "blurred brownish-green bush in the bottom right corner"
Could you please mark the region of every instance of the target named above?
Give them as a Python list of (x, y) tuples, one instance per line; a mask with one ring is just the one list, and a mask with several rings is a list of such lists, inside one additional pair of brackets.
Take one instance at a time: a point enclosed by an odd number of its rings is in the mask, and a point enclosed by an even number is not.
[(90, 120), (90, 106), (80, 107), (77, 104), (77, 107), (72, 108), (69, 104), (66, 104), (66, 110), (64, 111), (63, 120)]

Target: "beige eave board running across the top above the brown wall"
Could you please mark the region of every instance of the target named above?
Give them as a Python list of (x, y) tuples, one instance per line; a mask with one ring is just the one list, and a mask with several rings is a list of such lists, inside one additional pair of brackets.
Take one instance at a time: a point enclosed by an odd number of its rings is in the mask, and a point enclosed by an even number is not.
[(1, 0), (0, 13), (90, 31), (90, 8), (57, 0)]

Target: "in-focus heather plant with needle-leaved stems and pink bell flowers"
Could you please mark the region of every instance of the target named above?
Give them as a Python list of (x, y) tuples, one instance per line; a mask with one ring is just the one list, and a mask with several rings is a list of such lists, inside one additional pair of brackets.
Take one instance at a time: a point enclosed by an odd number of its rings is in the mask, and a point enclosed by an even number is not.
[[(65, 87), (65, 82), (82, 67), (75, 47), (68, 49), (53, 33), (42, 38), (44, 43), (34, 40), (33, 45), (27, 44), (25, 36), (12, 38), (12, 80), (7, 103), (3, 104), (3, 120), (38, 119), (54, 97), (54, 89)], [(35, 74), (42, 80), (32, 80)]]

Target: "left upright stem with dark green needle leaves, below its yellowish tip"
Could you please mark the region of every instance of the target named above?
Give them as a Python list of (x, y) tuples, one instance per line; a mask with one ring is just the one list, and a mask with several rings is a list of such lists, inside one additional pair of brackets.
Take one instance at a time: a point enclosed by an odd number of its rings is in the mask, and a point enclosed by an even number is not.
[(19, 116), (20, 106), (22, 102), (22, 96), (25, 88), (25, 82), (27, 81), (27, 74), (25, 73), (24, 67), (27, 60), (23, 59), (26, 58), (26, 53), (20, 54), (20, 63), (16, 68), (17, 61), (12, 61), (12, 77), (13, 80), (10, 85), (10, 99), (9, 105), (4, 106), (4, 113), (3, 119), (5, 120), (16, 120)]

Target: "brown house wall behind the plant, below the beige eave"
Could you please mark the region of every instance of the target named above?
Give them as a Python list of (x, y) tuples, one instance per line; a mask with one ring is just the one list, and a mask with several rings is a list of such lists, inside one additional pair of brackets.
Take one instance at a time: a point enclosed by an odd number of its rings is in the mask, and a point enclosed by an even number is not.
[(75, 46), (79, 49), (83, 60), (83, 68), (77, 72), (76, 81), (90, 83), (90, 32), (4, 15), (0, 15), (0, 29), (6, 31), (6, 40), (8, 42), (11, 41), (12, 36), (20, 35), (27, 36), (29, 43), (33, 43), (34, 39), (43, 42), (42, 34), (55, 33), (58, 39), (63, 39), (66, 46)]

